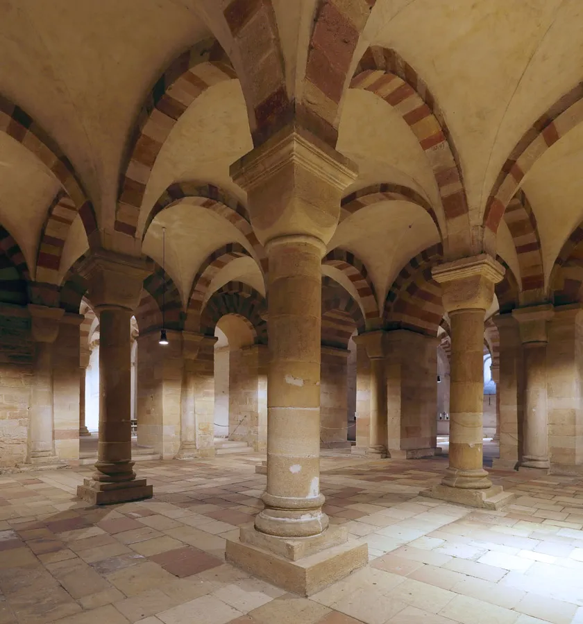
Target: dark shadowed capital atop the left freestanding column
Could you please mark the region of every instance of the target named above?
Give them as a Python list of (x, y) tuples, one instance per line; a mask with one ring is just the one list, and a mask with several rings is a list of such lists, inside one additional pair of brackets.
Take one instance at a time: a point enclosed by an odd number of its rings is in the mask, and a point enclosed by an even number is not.
[(96, 311), (117, 308), (134, 311), (140, 303), (144, 279), (152, 272), (151, 261), (97, 250), (79, 267), (87, 280), (87, 297)]

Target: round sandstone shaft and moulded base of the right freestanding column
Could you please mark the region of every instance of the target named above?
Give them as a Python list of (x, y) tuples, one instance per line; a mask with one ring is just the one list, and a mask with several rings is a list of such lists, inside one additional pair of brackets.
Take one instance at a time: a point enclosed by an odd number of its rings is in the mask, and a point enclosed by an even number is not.
[(453, 311), (450, 323), (449, 467), (441, 483), (484, 489), (491, 486), (482, 467), (484, 310)]

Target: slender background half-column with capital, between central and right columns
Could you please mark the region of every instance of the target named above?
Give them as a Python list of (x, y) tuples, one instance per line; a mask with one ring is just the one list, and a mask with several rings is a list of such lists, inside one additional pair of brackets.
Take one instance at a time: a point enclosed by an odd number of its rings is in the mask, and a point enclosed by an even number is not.
[(387, 383), (385, 381), (385, 331), (367, 331), (355, 336), (355, 343), (366, 349), (370, 361), (369, 447), (366, 455), (382, 459), (387, 457)]

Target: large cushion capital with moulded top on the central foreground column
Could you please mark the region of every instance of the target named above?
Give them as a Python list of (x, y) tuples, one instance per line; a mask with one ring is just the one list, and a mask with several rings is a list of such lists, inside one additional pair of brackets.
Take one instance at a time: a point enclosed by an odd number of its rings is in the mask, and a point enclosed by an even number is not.
[(230, 175), (247, 191), (251, 223), (262, 245), (298, 234), (326, 245), (357, 167), (310, 132), (289, 125), (233, 163)]

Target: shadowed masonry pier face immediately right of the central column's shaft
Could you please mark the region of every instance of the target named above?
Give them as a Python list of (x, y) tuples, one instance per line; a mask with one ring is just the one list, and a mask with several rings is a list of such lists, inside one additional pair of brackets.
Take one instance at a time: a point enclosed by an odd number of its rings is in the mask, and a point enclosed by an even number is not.
[(348, 350), (321, 347), (320, 444), (323, 448), (348, 447)]

